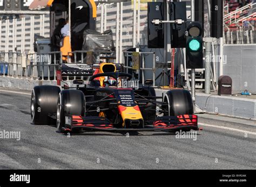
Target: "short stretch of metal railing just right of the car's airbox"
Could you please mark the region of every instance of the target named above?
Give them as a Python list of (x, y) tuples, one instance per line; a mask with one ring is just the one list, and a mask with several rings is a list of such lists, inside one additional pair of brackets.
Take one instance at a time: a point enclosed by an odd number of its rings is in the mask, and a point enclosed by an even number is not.
[[(124, 69), (126, 70), (126, 73), (128, 73), (129, 69), (132, 69), (131, 66), (129, 66), (129, 57), (132, 57), (132, 53), (130, 51), (124, 51), (125, 56), (125, 63), (124, 63)], [(153, 80), (153, 87), (156, 86), (156, 53), (154, 52), (139, 52), (140, 57), (142, 57), (142, 64), (140, 64), (141, 68), (139, 68), (138, 74), (140, 79), (140, 70), (142, 70), (142, 83), (144, 84), (145, 81), (145, 71), (151, 71), (152, 72), (152, 80)], [(152, 55), (152, 68), (146, 68), (145, 67), (145, 56), (146, 55)]]

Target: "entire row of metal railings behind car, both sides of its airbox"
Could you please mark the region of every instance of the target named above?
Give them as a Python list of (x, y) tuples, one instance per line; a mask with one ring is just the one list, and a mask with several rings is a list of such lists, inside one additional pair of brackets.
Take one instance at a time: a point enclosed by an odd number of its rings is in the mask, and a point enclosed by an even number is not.
[[(84, 63), (83, 61), (83, 55), (86, 53), (86, 55), (89, 53), (89, 51), (75, 51), (70, 52), (70, 59), (72, 56), (72, 63)], [(90, 52), (90, 53), (97, 53), (100, 54), (97, 59), (99, 59), (99, 62), (107, 61), (108, 57), (110, 57), (111, 60), (115, 61), (114, 56), (108, 56), (110, 54), (114, 54), (114, 52), (109, 51), (97, 51), (97, 52)], [(131, 66), (129, 66), (129, 57), (132, 57), (133, 52), (123, 52), (125, 54), (125, 63), (124, 68), (126, 72), (128, 73), (128, 69), (132, 69)], [(72, 55), (71, 55), (72, 54)], [(77, 59), (77, 55), (81, 55), (81, 59)], [(105, 54), (105, 55), (104, 55)], [(156, 86), (156, 54), (154, 52), (139, 52), (140, 57), (142, 57), (141, 67), (139, 70), (142, 71), (142, 74), (139, 77), (142, 77), (142, 82), (145, 81), (145, 71), (151, 71), (152, 72), (152, 79), (153, 79), (153, 87)], [(145, 57), (152, 55), (152, 68), (146, 67), (145, 64)], [(13, 57), (10, 58), (10, 56), (15, 56), (14, 62), (8, 61), (10, 59), (14, 59)], [(21, 58), (17, 60), (17, 56), (20, 56)], [(3, 66), (3, 74), (1, 76), (5, 77), (16, 77), (16, 78), (25, 78), (30, 80), (56, 80), (56, 70), (57, 66), (59, 66), (60, 63), (63, 63), (62, 59), (62, 53), (61, 52), (49, 52), (49, 53), (29, 53), (25, 55), (25, 63), (22, 62), (23, 59), (22, 53), (0, 53), (0, 59), (5, 59), (7, 61), (0, 61), (0, 66)], [(9, 57), (9, 59), (7, 59)], [(19, 63), (18, 63), (19, 62)], [(114, 63), (114, 62), (113, 62)], [(7, 73), (6, 73), (6, 68)], [(6, 75), (6, 74), (7, 75)], [(65, 76), (64, 76), (65, 77)], [(69, 80), (69, 76), (66, 76), (67, 80)], [(79, 76), (79, 78), (83, 78), (83, 76)], [(76, 76), (73, 76), (72, 79), (76, 79)]]

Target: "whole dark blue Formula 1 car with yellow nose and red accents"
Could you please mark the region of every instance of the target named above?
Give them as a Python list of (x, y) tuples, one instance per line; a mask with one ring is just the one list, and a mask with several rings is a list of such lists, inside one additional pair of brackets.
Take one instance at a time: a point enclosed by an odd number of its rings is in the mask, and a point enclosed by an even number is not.
[[(75, 65), (65, 64), (75, 68)], [(79, 64), (76, 66), (80, 67)], [(93, 70), (86, 64), (80, 71), (89, 72), (89, 83), (74, 80), (76, 87), (41, 85), (33, 88), (31, 118), (34, 124), (56, 124), (60, 132), (99, 131), (190, 131), (199, 130), (193, 114), (191, 94), (187, 90), (169, 90), (157, 97), (145, 85), (124, 88), (132, 75), (117, 71), (116, 65), (102, 63)], [(62, 75), (66, 75), (64, 68)], [(75, 72), (75, 70), (72, 70)], [(64, 74), (63, 74), (64, 73)], [(77, 74), (75, 74), (77, 75)], [(82, 75), (85, 75), (83, 72)], [(126, 85), (126, 84), (125, 84)]]

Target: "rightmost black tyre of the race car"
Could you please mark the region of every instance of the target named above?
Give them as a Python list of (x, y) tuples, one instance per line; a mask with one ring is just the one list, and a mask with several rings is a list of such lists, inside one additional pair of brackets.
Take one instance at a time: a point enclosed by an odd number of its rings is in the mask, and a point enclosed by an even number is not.
[(193, 114), (193, 100), (191, 94), (187, 90), (169, 90), (164, 96), (166, 111), (164, 116), (179, 116), (183, 114)]

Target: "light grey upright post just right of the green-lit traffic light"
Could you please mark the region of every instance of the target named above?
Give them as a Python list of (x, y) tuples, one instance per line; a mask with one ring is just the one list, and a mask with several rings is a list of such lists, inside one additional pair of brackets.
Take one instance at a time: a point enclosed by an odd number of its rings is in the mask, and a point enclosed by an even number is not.
[(211, 54), (212, 54), (211, 42), (205, 42), (205, 93), (211, 93)]

